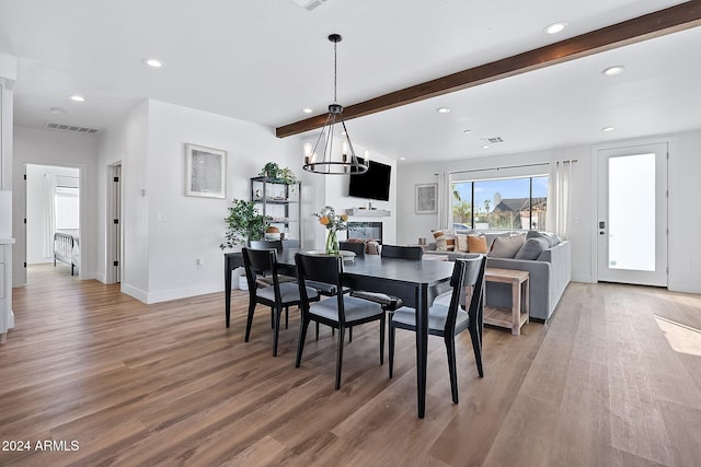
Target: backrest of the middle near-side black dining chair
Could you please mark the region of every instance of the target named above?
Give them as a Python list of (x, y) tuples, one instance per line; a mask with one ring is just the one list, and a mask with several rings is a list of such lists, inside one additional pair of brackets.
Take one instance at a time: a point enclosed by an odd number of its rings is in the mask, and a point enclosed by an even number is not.
[[(303, 308), (307, 308), (309, 303), (307, 287), (313, 288), (314, 283), (326, 283), (333, 285), (335, 290), (343, 290), (343, 258), (341, 256), (298, 253), (295, 255), (295, 265), (297, 266), (299, 296)], [(335, 294), (335, 300), (338, 301), (338, 320), (342, 323), (345, 322), (343, 296), (343, 293)]]

